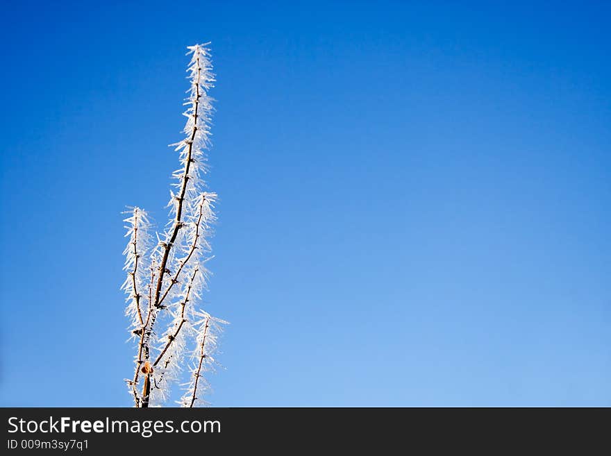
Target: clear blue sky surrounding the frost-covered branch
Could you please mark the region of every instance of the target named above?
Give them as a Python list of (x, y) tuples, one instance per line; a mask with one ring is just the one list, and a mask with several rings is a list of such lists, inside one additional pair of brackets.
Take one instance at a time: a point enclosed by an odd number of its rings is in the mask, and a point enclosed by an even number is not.
[(206, 41), (213, 405), (611, 405), (608, 3), (124, 3), (3, 4), (1, 405), (131, 405)]

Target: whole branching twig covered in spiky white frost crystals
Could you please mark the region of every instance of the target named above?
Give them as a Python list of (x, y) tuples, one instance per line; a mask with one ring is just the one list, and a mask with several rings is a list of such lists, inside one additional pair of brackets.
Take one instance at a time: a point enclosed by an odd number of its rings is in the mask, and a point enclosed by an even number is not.
[(188, 49), (185, 138), (171, 144), (181, 165), (172, 174), (171, 219), (167, 229), (157, 233), (154, 248), (147, 213), (133, 208), (125, 219), (130, 240), (124, 251), (127, 278), (122, 288), (128, 295), (131, 337), (137, 340), (135, 372), (127, 383), (136, 407), (164, 403), (171, 385), (181, 379), (183, 365), (194, 360), (195, 365), (186, 369), (189, 377), (183, 383), (187, 388), (181, 404), (203, 404), (201, 397), (208, 390), (203, 375), (213, 368), (217, 337), (226, 323), (198, 306), (208, 285), (206, 262), (212, 258), (209, 239), (216, 220), (217, 195), (206, 191), (202, 179), (208, 171), (213, 109), (208, 91), (215, 78), (206, 44)]

